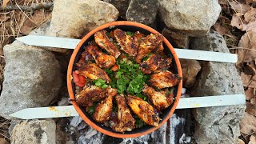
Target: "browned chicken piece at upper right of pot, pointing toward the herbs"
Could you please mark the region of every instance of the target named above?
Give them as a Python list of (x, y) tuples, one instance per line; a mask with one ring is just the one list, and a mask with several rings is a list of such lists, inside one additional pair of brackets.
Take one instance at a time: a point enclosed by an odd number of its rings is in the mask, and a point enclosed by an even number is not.
[(162, 34), (150, 34), (146, 36), (146, 38), (143, 39), (138, 46), (138, 54), (135, 58), (135, 61), (140, 63), (142, 58), (144, 58), (147, 54), (157, 51), (162, 41)]

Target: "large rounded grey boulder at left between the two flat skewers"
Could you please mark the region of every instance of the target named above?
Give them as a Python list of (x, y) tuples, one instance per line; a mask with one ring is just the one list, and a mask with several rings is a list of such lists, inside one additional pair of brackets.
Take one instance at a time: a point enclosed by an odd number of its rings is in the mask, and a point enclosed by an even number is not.
[(4, 47), (6, 67), (0, 115), (10, 118), (18, 110), (47, 106), (62, 86), (60, 66), (54, 54), (15, 41)]

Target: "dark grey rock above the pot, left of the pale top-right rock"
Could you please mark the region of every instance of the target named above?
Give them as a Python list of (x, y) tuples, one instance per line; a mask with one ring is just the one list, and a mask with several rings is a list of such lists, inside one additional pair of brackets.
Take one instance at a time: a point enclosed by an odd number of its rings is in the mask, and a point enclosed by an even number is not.
[(131, 0), (126, 12), (126, 18), (128, 21), (151, 25), (154, 23), (157, 11), (158, 0)]

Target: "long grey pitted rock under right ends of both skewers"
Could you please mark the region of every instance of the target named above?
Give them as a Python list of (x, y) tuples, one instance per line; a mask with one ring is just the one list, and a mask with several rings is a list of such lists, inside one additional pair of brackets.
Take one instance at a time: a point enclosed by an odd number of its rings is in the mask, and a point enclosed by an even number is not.
[[(229, 53), (226, 42), (215, 31), (191, 40), (191, 48)], [(202, 73), (192, 92), (194, 96), (244, 94), (242, 80), (231, 63), (203, 62)], [(198, 143), (238, 143), (239, 120), (245, 106), (218, 106), (194, 110), (198, 122), (194, 137)]]

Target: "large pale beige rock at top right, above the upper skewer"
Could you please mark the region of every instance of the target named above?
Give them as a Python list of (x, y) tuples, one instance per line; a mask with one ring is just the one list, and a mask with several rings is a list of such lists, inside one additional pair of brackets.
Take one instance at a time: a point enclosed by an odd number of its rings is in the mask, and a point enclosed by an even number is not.
[(205, 35), (218, 19), (218, 0), (158, 0), (158, 10), (166, 26), (191, 36)]

